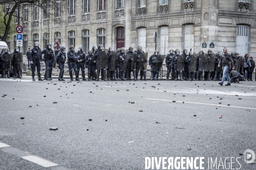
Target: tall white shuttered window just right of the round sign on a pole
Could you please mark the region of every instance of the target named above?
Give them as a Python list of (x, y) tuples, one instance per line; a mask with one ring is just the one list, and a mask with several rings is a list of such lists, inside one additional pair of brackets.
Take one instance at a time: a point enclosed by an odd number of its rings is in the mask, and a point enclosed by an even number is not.
[(160, 27), (160, 54), (168, 54), (168, 45), (169, 45), (169, 27), (162, 26)]

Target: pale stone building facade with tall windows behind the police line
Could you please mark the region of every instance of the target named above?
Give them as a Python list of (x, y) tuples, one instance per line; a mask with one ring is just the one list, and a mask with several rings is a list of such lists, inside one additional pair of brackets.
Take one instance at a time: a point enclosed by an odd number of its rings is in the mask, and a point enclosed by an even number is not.
[[(99, 43), (114, 49), (140, 45), (150, 55), (157, 31), (160, 54), (171, 48), (198, 52), (210, 47), (213, 52), (227, 47), (229, 52), (256, 54), (256, 0), (56, 0), (54, 20), (44, 18), (34, 5), (20, 9), (28, 20), (22, 23), (23, 51), (35, 41), (44, 48), (59, 39), (62, 46), (84, 51)], [(14, 42), (15, 35), (8, 42), (11, 50)]]

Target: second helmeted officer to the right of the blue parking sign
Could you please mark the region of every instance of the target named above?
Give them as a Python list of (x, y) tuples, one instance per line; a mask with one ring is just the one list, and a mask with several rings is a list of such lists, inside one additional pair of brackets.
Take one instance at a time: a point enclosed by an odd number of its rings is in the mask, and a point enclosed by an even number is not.
[(52, 72), (52, 67), (55, 67), (56, 62), (55, 62), (55, 54), (54, 51), (52, 50), (52, 45), (47, 44), (47, 48), (42, 50), (42, 54), (44, 54), (43, 61), (45, 62), (45, 74), (44, 74), (44, 80), (52, 80), (51, 79), (51, 72)]

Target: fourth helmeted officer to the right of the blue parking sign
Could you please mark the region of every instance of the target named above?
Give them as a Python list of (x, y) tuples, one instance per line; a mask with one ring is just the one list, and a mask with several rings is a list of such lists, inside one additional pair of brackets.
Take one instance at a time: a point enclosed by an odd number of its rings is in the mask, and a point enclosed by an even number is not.
[(76, 52), (74, 51), (75, 47), (74, 45), (70, 45), (70, 51), (67, 52), (67, 58), (68, 58), (68, 68), (69, 68), (69, 74), (70, 74), (70, 80), (73, 81), (73, 69), (75, 71), (76, 75), (76, 81), (79, 81), (78, 78), (78, 70), (76, 68), (76, 61), (78, 57), (76, 56)]

